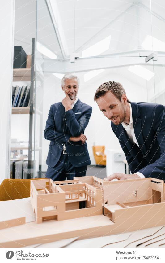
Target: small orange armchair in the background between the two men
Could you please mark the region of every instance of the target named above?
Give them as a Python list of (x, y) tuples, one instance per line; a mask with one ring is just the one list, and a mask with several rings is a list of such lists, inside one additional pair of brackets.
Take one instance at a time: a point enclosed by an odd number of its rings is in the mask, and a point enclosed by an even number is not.
[(104, 154), (105, 146), (93, 146), (92, 150), (96, 165), (106, 166), (106, 155)]

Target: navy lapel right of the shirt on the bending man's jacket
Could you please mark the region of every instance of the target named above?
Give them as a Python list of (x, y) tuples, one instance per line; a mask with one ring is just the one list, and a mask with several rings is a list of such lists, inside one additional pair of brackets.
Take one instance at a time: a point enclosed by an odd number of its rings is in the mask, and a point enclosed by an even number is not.
[(142, 119), (140, 116), (140, 112), (139, 112), (137, 103), (131, 102), (131, 107), (132, 107), (134, 133), (135, 133), (137, 142), (139, 144), (139, 147), (144, 155), (146, 153), (146, 145), (145, 145), (145, 141), (144, 141), (143, 134), (142, 134)]

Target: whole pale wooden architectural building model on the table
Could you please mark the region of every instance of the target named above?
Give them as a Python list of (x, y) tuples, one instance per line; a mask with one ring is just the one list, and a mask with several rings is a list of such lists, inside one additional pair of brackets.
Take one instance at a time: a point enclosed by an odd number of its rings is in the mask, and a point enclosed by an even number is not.
[[(20, 199), (29, 215), (23, 208), (20, 213), (20, 201), (14, 200), (13, 216), (1, 219), (0, 247), (19, 248), (128, 232), (130, 235), (133, 231), (141, 239), (137, 230), (148, 228), (147, 236), (150, 230), (158, 231), (159, 226), (164, 231), (164, 190), (164, 182), (154, 178), (113, 182), (94, 176), (58, 182), (46, 178), (32, 180), (31, 197), (26, 202)], [(11, 201), (4, 202), (10, 202), (10, 210)], [(1, 204), (2, 215), (6, 205)]]

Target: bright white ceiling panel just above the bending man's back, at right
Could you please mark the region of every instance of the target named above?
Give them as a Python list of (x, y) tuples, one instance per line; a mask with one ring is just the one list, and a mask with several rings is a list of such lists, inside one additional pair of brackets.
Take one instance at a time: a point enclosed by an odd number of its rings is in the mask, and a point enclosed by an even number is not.
[(154, 76), (154, 72), (140, 66), (129, 66), (128, 70), (134, 74), (136, 74), (139, 77), (142, 77), (145, 80), (150, 80)]

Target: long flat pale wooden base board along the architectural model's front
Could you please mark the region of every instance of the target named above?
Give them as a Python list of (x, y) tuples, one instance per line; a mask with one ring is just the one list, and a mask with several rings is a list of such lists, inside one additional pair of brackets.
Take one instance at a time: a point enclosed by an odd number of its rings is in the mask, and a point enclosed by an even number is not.
[[(163, 221), (164, 222), (164, 221)], [(127, 227), (126, 227), (127, 225)], [(148, 227), (163, 225), (162, 221), (153, 221)], [(123, 231), (125, 228), (125, 231)], [(146, 228), (144, 224), (141, 229)], [(2, 248), (19, 248), (38, 243), (49, 243), (57, 240), (74, 238), (79, 236), (80, 239), (114, 235), (138, 230), (138, 225), (133, 224), (114, 224), (104, 215), (75, 218), (63, 221), (44, 221), (42, 224), (30, 222), (22, 226), (16, 226), (14, 231), (2, 229), (0, 235), (0, 247)]]

